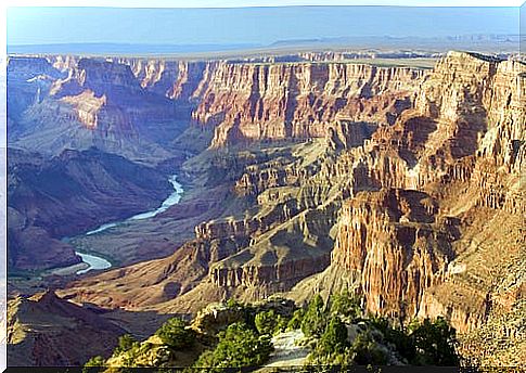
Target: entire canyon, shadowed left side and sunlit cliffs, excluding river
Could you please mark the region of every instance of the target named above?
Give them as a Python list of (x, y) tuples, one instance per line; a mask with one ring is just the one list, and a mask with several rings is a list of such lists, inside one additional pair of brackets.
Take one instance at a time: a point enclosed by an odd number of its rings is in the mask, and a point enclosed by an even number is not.
[[(117, 268), (35, 288), (125, 330), (349, 290), (402, 322), (446, 317), (472, 363), (526, 360), (526, 65), (341, 60), (10, 57), (10, 266), (78, 262), (64, 236), (99, 247)], [(78, 236), (155, 208), (174, 171), (180, 203)]]

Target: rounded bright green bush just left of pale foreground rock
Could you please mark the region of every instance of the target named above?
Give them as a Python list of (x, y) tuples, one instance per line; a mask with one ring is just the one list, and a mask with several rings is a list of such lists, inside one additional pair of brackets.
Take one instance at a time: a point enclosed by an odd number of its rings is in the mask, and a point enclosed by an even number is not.
[(194, 366), (207, 372), (222, 372), (222, 368), (258, 366), (268, 360), (271, 351), (269, 335), (259, 336), (246, 323), (238, 322), (219, 333), (216, 348), (203, 352)]

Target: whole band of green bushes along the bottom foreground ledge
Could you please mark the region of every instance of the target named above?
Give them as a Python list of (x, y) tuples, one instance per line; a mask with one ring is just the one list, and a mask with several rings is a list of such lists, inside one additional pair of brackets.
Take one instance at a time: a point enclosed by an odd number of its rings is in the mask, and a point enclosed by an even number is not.
[(398, 319), (365, 314), (360, 299), (348, 292), (326, 303), (317, 295), (304, 307), (283, 298), (252, 305), (230, 299), (203, 312), (191, 325), (169, 319), (142, 343), (124, 335), (110, 359), (94, 357), (85, 366), (252, 370), (268, 361), (273, 335), (299, 329), (305, 336), (300, 345), (311, 349), (305, 360), (310, 371), (331, 365), (459, 364), (456, 332), (444, 319), (412, 321), (406, 327)]

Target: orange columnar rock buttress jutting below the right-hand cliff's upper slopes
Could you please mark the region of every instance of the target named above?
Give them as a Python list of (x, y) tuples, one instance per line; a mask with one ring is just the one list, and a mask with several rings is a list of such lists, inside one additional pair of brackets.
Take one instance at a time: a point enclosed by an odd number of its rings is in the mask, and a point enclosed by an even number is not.
[(333, 261), (356, 273), (370, 311), (415, 314), (442, 281), (454, 237), (436, 214), (428, 195), (407, 190), (360, 192), (344, 205)]

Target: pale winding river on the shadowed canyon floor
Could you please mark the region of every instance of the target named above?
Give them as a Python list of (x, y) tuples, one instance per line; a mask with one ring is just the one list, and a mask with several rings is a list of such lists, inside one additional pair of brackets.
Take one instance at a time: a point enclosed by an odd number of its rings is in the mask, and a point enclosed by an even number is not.
[[(100, 227), (98, 227), (94, 230), (88, 231), (85, 234), (86, 235), (92, 235), (92, 234), (98, 234), (101, 232), (104, 232), (105, 230), (108, 230), (110, 228), (115, 228), (119, 227), (121, 224), (125, 224), (126, 222), (129, 221), (136, 221), (136, 220), (144, 220), (144, 219), (150, 219), (155, 216), (157, 216), (161, 213), (166, 211), (170, 206), (174, 206), (181, 201), (181, 196), (183, 193), (182, 185), (177, 182), (177, 175), (172, 175), (169, 177), (168, 181), (170, 184), (174, 186), (174, 192), (161, 204), (161, 206), (154, 210), (151, 211), (145, 211), (141, 214), (133, 215), (132, 217), (126, 219), (126, 220), (119, 220), (119, 221), (113, 221), (108, 223), (104, 223)], [(82, 261), (88, 265), (87, 268), (80, 269), (76, 271), (75, 273), (77, 274), (82, 274), (88, 271), (91, 271), (92, 269), (107, 269), (112, 267), (112, 263), (101, 257), (98, 257), (92, 254), (86, 254), (86, 253), (80, 253), (80, 252), (75, 252), (78, 256), (82, 258)]]

